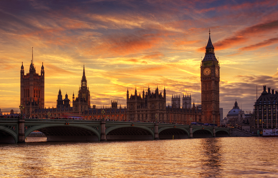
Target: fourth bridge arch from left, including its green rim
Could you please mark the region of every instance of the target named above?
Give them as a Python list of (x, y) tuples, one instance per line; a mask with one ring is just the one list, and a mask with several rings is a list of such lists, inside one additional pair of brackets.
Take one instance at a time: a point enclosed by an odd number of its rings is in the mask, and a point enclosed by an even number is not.
[(188, 139), (189, 132), (186, 128), (178, 128), (175, 126), (168, 126), (158, 130), (159, 139)]

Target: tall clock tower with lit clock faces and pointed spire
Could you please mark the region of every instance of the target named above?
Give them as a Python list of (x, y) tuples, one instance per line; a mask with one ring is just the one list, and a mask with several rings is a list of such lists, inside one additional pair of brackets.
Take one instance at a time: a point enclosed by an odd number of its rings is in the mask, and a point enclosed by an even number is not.
[(220, 126), (219, 113), (219, 63), (215, 57), (214, 47), (210, 39), (204, 59), (201, 63), (201, 103), (202, 103), (202, 122), (215, 123)]

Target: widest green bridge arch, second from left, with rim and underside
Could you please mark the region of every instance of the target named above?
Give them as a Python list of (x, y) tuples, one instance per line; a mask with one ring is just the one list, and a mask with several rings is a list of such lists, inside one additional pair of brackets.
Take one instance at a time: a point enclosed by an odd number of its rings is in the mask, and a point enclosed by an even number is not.
[(48, 141), (100, 141), (99, 132), (90, 126), (78, 124), (71, 124), (70, 126), (64, 124), (36, 125), (25, 132), (25, 138), (35, 130), (42, 132)]

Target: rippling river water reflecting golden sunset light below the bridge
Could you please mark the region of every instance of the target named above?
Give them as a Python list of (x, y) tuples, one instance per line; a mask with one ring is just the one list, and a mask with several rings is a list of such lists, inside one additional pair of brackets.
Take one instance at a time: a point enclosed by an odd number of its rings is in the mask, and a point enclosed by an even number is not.
[(278, 177), (277, 139), (46, 142), (46, 137), (27, 137), (24, 144), (0, 144), (0, 177)]

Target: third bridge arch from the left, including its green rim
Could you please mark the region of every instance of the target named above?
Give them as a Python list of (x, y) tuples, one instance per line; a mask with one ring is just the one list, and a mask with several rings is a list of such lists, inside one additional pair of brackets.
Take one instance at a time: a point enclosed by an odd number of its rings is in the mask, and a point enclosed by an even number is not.
[(105, 130), (107, 140), (153, 140), (153, 127), (134, 126), (107, 126)]

